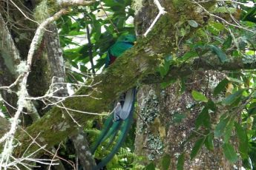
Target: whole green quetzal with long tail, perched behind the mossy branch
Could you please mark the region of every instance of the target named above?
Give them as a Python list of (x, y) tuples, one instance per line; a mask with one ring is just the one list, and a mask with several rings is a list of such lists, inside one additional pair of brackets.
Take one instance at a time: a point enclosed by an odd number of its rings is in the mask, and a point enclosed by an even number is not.
[[(135, 41), (136, 37), (134, 35), (128, 34), (120, 36), (116, 43), (108, 50), (108, 54), (105, 59), (105, 67), (112, 64), (116, 58), (125, 52), (125, 50), (133, 47)], [(111, 144), (114, 143), (114, 140), (116, 140), (116, 144), (111, 149), (111, 152), (106, 155), (100, 163), (93, 167), (93, 170), (102, 169), (102, 167), (104, 167), (114, 157), (116, 152), (118, 152), (119, 148), (122, 146), (122, 143), (125, 141), (125, 137), (128, 135), (128, 131), (132, 123), (135, 95), (136, 89), (129, 89), (114, 103), (114, 114), (105, 120), (103, 129), (91, 148), (91, 153), (94, 154), (96, 149), (105, 140), (108, 140), (108, 146), (111, 146)]]

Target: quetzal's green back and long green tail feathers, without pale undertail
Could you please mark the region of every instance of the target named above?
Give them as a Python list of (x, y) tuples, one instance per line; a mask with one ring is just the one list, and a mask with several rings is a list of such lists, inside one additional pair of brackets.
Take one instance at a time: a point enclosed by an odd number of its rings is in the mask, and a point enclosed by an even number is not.
[[(116, 43), (113, 44), (109, 50), (108, 55), (105, 60), (105, 67), (108, 67), (111, 63), (114, 62), (113, 58), (118, 58), (120, 55), (122, 55), (123, 52), (126, 50), (129, 50), (131, 47), (133, 47), (134, 42), (136, 41), (136, 37), (134, 35), (128, 34), (128, 35), (122, 35), (117, 40)], [(110, 117), (108, 117), (107, 120), (105, 120), (103, 129), (97, 138), (96, 142), (94, 143), (93, 147), (91, 148), (92, 154), (96, 151), (96, 149), (100, 146), (101, 143), (103, 143), (105, 140), (109, 139), (108, 147), (111, 146), (112, 143), (114, 143), (114, 140), (116, 140), (116, 145), (111, 149), (110, 154), (108, 154), (106, 157), (102, 159), (102, 161), (96, 166), (93, 167), (93, 170), (98, 170), (104, 167), (113, 157), (116, 152), (118, 152), (119, 148), (122, 146), (122, 143), (125, 140), (125, 137), (128, 135), (128, 131), (131, 127), (132, 118), (133, 118), (133, 110), (134, 110), (134, 101), (135, 101), (135, 94), (136, 90), (131, 89), (133, 94), (132, 96), (132, 106), (131, 110), (129, 110), (128, 118), (125, 120), (119, 119), (117, 121), (114, 121), (114, 114), (112, 114)], [(131, 92), (131, 91), (129, 91)], [(126, 114), (127, 115), (127, 114)], [(118, 132), (120, 131), (120, 132)], [(107, 147), (107, 148), (108, 148)]]

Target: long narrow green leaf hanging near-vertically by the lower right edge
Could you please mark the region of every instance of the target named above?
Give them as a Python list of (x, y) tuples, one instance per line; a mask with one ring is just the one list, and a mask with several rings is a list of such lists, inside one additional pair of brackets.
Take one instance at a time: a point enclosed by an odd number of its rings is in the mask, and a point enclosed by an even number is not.
[(245, 159), (248, 158), (248, 150), (249, 150), (246, 131), (237, 122), (234, 123), (234, 126), (235, 126), (235, 129), (236, 129), (236, 132), (237, 132), (237, 137), (238, 137), (238, 140), (239, 140), (238, 150), (239, 150), (239, 153), (240, 153), (241, 157), (243, 158), (243, 160), (245, 160)]

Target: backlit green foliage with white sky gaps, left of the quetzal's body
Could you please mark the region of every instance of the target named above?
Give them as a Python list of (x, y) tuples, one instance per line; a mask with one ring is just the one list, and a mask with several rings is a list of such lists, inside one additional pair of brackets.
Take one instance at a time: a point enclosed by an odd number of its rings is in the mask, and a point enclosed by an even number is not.
[[(130, 6), (129, 0), (96, 1), (93, 6), (76, 8), (69, 16), (59, 20), (60, 42), (69, 64), (68, 81), (83, 82), (85, 75), (77, 72), (90, 74), (93, 69), (99, 70), (105, 64), (105, 52), (119, 35), (134, 34), (134, 27), (129, 24), (134, 15)], [(78, 69), (77, 72), (70, 71), (71, 67)]]

